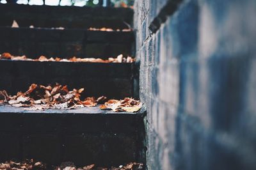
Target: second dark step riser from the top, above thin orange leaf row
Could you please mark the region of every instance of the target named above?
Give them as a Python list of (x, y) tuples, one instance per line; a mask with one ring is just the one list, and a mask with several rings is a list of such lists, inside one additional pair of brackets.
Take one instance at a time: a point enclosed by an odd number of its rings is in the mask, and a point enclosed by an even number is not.
[(86, 29), (30, 29), (0, 27), (0, 52), (38, 58), (103, 58), (132, 56), (132, 31), (88, 31)]

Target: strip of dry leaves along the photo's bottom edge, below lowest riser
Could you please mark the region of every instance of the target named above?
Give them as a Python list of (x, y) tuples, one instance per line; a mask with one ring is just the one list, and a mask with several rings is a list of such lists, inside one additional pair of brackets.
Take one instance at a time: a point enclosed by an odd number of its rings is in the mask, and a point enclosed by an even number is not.
[(139, 170), (143, 169), (143, 164), (131, 162), (125, 166), (119, 167), (96, 167), (95, 164), (84, 167), (76, 167), (73, 162), (63, 162), (60, 166), (47, 166), (42, 162), (35, 162), (33, 159), (25, 160), (23, 162), (14, 162), (12, 160), (6, 161), (5, 163), (0, 163), (0, 169), (5, 170), (46, 170), (46, 169), (54, 169), (54, 170)]

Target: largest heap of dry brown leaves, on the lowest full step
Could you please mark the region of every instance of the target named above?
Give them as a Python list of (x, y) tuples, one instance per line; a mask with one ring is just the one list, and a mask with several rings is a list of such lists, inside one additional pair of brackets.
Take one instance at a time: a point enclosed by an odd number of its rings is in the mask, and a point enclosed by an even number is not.
[[(80, 97), (83, 91), (84, 88), (69, 91), (67, 86), (60, 84), (55, 84), (54, 86), (31, 84), (26, 92), (18, 92), (14, 96), (8, 95), (5, 90), (0, 91), (0, 104), (8, 104), (13, 107), (28, 107), (28, 110), (41, 110), (93, 107), (106, 101), (104, 96), (99, 98), (87, 97), (81, 100)], [(114, 112), (137, 112), (141, 107), (142, 103), (133, 98), (124, 98), (124, 100), (111, 99), (100, 105), (100, 109), (111, 109)]]

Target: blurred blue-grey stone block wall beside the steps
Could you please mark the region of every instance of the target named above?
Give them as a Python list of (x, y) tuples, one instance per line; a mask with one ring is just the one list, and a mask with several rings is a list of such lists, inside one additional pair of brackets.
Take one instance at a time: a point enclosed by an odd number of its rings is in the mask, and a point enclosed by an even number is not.
[(148, 169), (256, 169), (256, 1), (134, 11)]

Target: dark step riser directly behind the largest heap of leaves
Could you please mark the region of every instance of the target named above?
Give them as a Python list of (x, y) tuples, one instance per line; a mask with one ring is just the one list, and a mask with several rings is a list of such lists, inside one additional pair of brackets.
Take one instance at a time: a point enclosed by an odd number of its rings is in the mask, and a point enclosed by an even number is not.
[(14, 95), (32, 83), (85, 88), (82, 97), (136, 97), (138, 77), (134, 63), (82, 63), (0, 60), (0, 88)]

